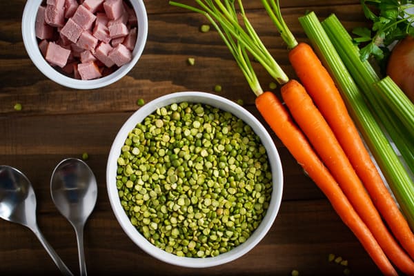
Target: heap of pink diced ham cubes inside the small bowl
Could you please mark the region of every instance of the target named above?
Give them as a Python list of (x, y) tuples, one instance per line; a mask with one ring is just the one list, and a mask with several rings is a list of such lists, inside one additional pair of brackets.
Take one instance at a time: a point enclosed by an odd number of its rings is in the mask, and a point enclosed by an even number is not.
[(60, 72), (96, 79), (132, 59), (137, 17), (126, 0), (42, 2), (35, 22), (39, 50)]

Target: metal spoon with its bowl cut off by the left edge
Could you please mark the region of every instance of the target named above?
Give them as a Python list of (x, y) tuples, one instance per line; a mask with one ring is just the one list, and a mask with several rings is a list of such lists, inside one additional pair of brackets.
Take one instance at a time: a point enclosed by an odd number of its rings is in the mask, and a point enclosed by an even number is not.
[(37, 226), (36, 195), (34, 195), (32, 184), (26, 175), (10, 166), (0, 166), (0, 217), (32, 230), (61, 273), (73, 275)]

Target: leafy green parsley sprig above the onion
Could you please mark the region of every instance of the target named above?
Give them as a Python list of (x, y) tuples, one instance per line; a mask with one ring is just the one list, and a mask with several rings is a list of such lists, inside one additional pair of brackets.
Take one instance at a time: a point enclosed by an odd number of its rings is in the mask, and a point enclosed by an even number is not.
[(414, 3), (412, 0), (361, 0), (361, 5), (365, 17), (373, 24), (371, 30), (355, 28), (354, 41), (363, 46), (362, 61), (373, 56), (382, 63), (388, 58), (388, 46), (407, 34), (414, 36)]

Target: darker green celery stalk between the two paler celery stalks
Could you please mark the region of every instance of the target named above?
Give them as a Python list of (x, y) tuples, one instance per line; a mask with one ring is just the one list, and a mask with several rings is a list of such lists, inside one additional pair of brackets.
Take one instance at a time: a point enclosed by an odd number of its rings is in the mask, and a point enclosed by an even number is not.
[[(361, 61), (359, 48), (355, 46), (351, 36), (335, 14), (331, 14), (322, 21), (322, 26), (329, 39), (331, 39), (339, 57), (341, 57), (351, 76), (355, 79), (357, 86), (361, 88), (364, 96), (368, 99), (368, 105), (373, 108), (375, 116), (401, 152), (408, 167), (414, 170), (414, 137), (411, 136), (409, 131), (407, 132), (403, 122), (395, 115), (388, 103), (384, 101), (380, 95), (384, 92), (378, 90), (379, 88), (389, 88), (389, 86), (375, 86), (375, 83), (380, 81), (380, 77), (378, 77), (371, 63)], [(393, 92), (389, 91), (388, 93)]]

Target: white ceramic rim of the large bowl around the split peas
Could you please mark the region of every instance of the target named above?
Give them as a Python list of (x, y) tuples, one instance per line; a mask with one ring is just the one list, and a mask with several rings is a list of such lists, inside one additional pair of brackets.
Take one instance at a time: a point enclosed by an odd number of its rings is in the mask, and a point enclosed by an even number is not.
[[(262, 144), (266, 148), (268, 161), (270, 163), (273, 175), (273, 192), (270, 199), (270, 205), (261, 224), (259, 224), (258, 228), (253, 232), (253, 235), (251, 235), (246, 240), (246, 242), (233, 248), (227, 253), (222, 253), (216, 257), (178, 257), (177, 255), (167, 253), (165, 250), (152, 245), (143, 235), (141, 235), (141, 233), (139, 233), (135, 226), (132, 226), (124, 208), (121, 206), (121, 201), (118, 196), (116, 185), (118, 166), (117, 159), (121, 153), (121, 147), (124, 146), (126, 137), (128, 137), (128, 133), (157, 108), (168, 106), (172, 103), (180, 103), (182, 101), (204, 103), (220, 108), (221, 110), (233, 113), (233, 115), (239, 117), (246, 124), (250, 125), (255, 133), (259, 135)], [(115, 137), (115, 140), (113, 141), (112, 147), (110, 148), (108, 164), (106, 168), (106, 182), (110, 204), (112, 206), (112, 210), (115, 213), (115, 217), (117, 217), (119, 224), (124, 229), (126, 234), (130, 237), (130, 239), (135, 242), (135, 244), (146, 251), (146, 253), (168, 264), (175, 264), (177, 266), (186, 266), (190, 268), (204, 268), (231, 262), (234, 259), (237, 259), (242, 255), (248, 253), (249, 250), (251, 250), (262, 240), (264, 235), (266, 235), (270, 229), (270, 226), (272, 226), (273, 221), (275, 220), (275, 217), (279, 211), (279, 206), (282, 201), (283, 173), (281, 161), (279, 159), (279, 153), (277, 152), (272, 138), (268, 134), (266, 128), (264, 128), (264, 126), (253, 115), (251, 115), (250, 112), (248, 112), (242, 106), (239, 106), (237, 103), (234, 103), (233, 101), (210, 93), (175, 92), (146, 103), (134, 114), (132, 114), (132, 116), (125, 122), (124, 126), (121, 127), (117, 136)]]

